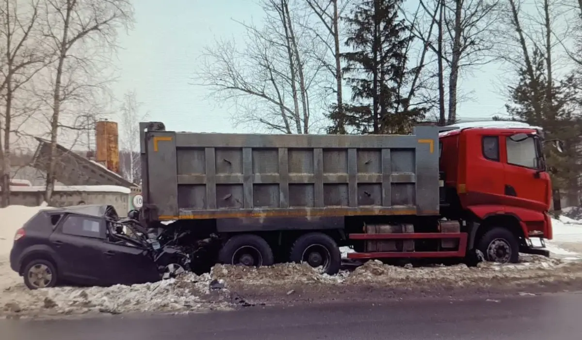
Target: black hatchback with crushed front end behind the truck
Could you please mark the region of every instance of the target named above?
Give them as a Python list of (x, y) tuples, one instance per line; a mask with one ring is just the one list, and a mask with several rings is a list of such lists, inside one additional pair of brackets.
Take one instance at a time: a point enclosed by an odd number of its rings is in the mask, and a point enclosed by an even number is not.
[(182, 249), (161, 245), (109, 205), (41, 210), (16, 232), (10, 252), (10, 267), (30, 289), (154, 282), (188, 266)]

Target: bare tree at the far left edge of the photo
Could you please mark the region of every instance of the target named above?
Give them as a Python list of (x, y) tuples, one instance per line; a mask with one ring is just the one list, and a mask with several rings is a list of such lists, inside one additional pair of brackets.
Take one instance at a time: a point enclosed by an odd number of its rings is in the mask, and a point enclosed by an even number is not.
[(2, 0), (0, 6), (0, 99), (4, 109), (0, 117), (1, 204), (7, 206), (10, 204), (11, 138), (30, 112), (19, 94), (47, 58), (37, 47), (40, 0), (26, 3)]

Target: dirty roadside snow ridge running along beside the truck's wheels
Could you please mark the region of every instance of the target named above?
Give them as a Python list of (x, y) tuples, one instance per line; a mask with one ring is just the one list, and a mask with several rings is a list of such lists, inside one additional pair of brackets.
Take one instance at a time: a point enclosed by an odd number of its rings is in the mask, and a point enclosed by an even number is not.
[[(350, 285), (380, 284), (384, 287), (414, 289), (419, 285), (481, 285), (511, 284), (512, 282), (549, 280), (556, 275), (562, 279), (582, 277), (582, 272), (569, 274), (572, 263), (544, 256), (521, 255), (517, 264), (479, 263), (477, 267), (466, 264), (455, 266), (404, 267), (391, 266), (379, 260), (371, 260), (356, 270), (340, 271), (337, 275), (327, 275), (307, 264), (275, 264), (271, 267), (240, 267), (217, 265), (212, 269), (212, 278), (221, 278), (229, 287), (241, 286), (286, 286), (286, 285)], [(570, 276), (569, 276), (570, 275)], [(500, 280), (501, 282), (496, 282)]]

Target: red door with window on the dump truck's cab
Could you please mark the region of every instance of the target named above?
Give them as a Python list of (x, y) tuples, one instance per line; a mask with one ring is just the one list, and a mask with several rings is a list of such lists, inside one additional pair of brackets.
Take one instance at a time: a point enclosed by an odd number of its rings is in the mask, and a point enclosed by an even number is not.
[(539, 162), (542, 152), (540, 139), (529, 134), (517, 141), (512, 140), (511, 135), (499, 138), (505, 167), (505, 201), (509, 206), (547, 210), (550, 179)]

